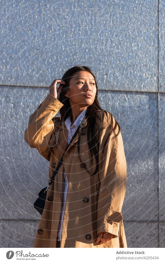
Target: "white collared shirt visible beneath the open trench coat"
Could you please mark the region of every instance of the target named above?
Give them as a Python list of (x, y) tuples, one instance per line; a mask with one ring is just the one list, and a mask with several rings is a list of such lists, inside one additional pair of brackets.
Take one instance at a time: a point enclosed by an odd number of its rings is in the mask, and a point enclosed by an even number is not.
[[(70, 116), (65, 120), (65, 125), (67, 127), (67, 142), (70, 142), (74, 133), (76, 132), (76, 129), (79, 127), (80, 122), (82, 121), (85, 112), (87, 108), (85, 108), (80, 115), (77, 117), (76, 121), (72, 124)], [(72, 124), (72, 126), (71, 126)], [(61, 240), (61, 233), (62, 233), (62, 226), (63, 226), (63, 215), (64, 215), (64, 208), (65, 208), (65, 202), (67, 197), (67, 188), (68, 188), (68, 181), (67, 176), (64, 172), (64, 183), (63, 183), (63, 206), (61, 209), (60, 219), (59, 219), (59, 227), (58, 227), (58, 234), (59, 237), (58, 241)]]

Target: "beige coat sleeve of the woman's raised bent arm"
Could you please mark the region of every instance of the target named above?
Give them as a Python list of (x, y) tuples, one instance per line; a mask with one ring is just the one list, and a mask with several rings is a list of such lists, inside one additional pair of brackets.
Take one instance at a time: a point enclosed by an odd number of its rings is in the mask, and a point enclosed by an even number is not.
[(49, 93), (36, 111), (30, 115), (28, 128), (24, 132), (24, 140), (28, 145), (37, 148), (39, 153), (48, 161), (50, 161), (48, 143), (54, 132), (52, 119), (63, 105)]

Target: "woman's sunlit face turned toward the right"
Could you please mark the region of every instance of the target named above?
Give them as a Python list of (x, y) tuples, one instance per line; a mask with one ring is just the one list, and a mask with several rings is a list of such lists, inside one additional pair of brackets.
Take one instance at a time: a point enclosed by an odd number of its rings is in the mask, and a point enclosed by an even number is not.
[[(94, 102), (96, 91), (96, 83), (92, 74), (87, 71), (78, 71), (70, 79), (69, 89), (65, 96), (69, 97), (71, 107), (75, 104), (86, 107)], [(91, 96), (85, 96), (87, 93)]]

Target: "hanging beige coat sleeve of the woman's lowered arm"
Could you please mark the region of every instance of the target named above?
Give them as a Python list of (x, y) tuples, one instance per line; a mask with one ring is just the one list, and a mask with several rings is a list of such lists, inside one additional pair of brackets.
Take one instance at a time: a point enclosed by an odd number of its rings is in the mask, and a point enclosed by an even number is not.
[[(113, 117), (113, 116), (112, 116)], [(115, 118), (113, 117), (113, 125)], [(111, 140), (104, 147), (108, 129), (103, 129), (99, 146), (99, 180), (97, 209), (97, 235), (100, 232), (109, 232), (119, 236), (119, 224), (123, 220), (121, 208), (126, 191), (126, 159), (121, 132), (117, 136), (118, 142)], [(115, 129), (117, 134), (118, 128)], [(104, 153), (102, 155), (104, 147)]]

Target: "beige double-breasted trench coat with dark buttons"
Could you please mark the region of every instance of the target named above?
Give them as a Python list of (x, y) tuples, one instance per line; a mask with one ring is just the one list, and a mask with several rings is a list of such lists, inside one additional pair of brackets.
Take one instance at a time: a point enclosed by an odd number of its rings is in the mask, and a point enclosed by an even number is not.
[[(60, 125), (59, 117), (54, 117), (62, 106), (63, 103), (48, 94), (30, 115), (28, 128), (24, 133), (24, 139), (29, 146), (37, 148), (39, 153), (50, 161), (49, 179), (67, 146), (67, 128), (63, 121)], [(104, 118), (106, 117), (103, 117), (102, 121)], [(64, 169), (68, 192), (60, 247), (127, 248), (121, 211), (126, 190), (126, 159), (122, 136), (121, 133), (118, 135), (118, 144), (113, 143), (113, 147), (110, 140), (102, 156), (106, 129), (99, 130), (99, 171), (90, 177), (96, 163), (95, 158), (92, 159), (92, 165), (90, 162), (87, 119), (80, 133), (80, 154), (78, 155), (76, 148), (77, 135), (65, 152), (63, 163), (48, 189), (45, 208), (33, 243), (34, 248), (56, 248), (63, 200)], [(38, 188), (38, 192), (40, 190), (41, 188)], [(114, 238), (99, 245), (95, 240), (102, 231), (110, 232)]]

